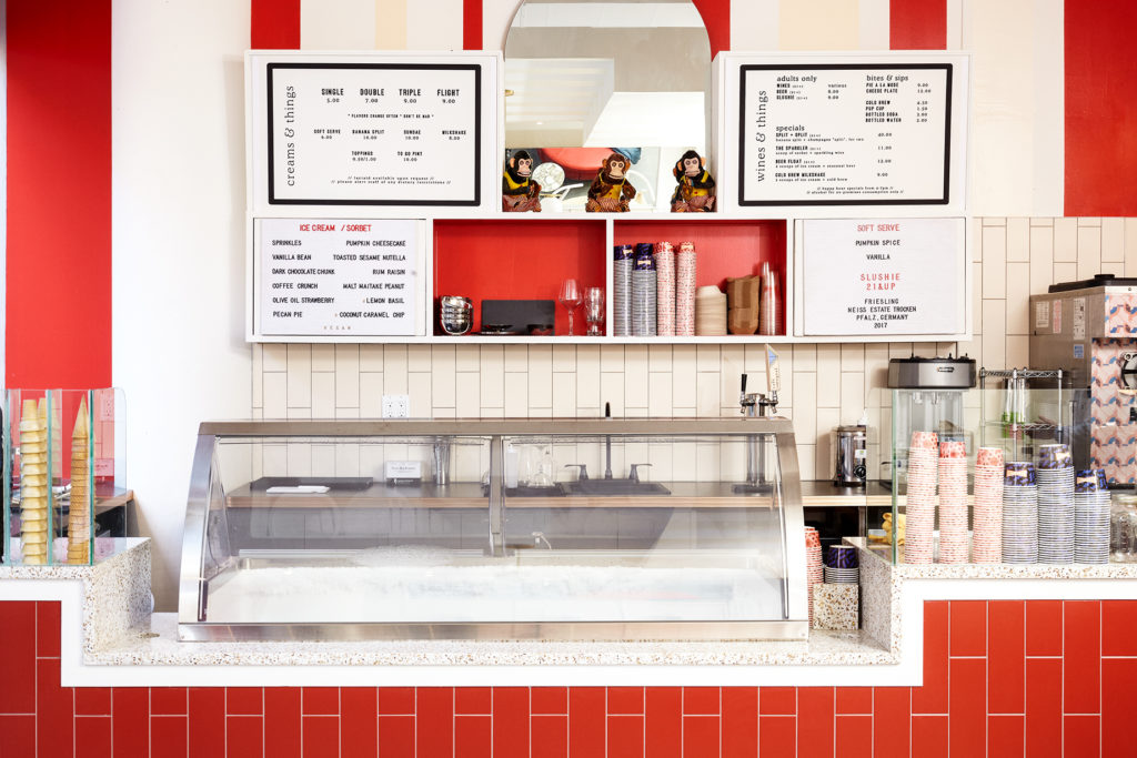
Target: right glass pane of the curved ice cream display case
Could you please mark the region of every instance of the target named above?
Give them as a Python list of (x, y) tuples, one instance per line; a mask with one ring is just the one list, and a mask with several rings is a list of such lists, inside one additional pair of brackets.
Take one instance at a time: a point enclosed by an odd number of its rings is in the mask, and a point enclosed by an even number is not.
[(524, 602), (528, 618), (789, 618), (773, 434), (509, 436), (504, 445), (504, 548), (517, 568), (495, 586)]

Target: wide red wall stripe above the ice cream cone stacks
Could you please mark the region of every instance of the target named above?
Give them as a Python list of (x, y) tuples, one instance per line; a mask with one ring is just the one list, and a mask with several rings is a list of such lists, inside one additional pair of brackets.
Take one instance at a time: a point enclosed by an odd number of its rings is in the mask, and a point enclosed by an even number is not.
[(110, 7), (8, 3), (8, 386), (111, 381)]

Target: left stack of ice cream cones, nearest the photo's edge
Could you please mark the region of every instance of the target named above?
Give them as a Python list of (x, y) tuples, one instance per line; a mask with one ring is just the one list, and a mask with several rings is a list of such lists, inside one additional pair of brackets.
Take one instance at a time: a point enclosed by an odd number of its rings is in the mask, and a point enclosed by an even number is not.
[(48, 405), (25, 400), (19, 420), (20, 545), (24, 563), (48, 563)]

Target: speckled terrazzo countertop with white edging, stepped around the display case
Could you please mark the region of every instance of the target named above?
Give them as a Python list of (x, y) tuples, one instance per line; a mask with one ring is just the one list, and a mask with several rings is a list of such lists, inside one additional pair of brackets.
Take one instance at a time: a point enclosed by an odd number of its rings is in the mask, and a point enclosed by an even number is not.
[[(181, 642), (150, 613), (150, 543), (94, 566), (0, 567), (0, 600), (63, 601), (63, 683), (83, 685), (918, 685), (926, 600), (1131, 598), (1137, 565), (893, 566), (861, 553), (862, 628), (789, 642)], [(1009, 580), (996, 582), (991, 580)], [(537, 670), (534, 672), (534, 667)], [(537, 673), (540, 672), (540, 673)]]

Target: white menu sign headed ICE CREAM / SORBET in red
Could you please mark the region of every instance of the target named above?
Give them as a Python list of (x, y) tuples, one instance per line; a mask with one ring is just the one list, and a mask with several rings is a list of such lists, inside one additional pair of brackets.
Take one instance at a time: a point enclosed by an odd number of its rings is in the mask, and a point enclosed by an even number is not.
[(258, 218), (250, 336), (337, 341), (422, 333), (424, 222)]

